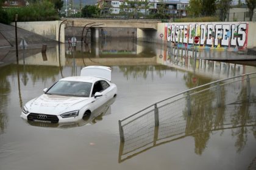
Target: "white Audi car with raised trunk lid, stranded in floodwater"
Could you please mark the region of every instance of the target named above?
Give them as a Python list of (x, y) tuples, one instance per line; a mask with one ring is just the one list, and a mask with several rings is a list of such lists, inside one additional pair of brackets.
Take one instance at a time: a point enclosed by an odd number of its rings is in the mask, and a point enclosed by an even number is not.
[(80, 77), (62, 78), (43, 92), (25, 104), (22, 118), (51, 123), (79, 121), (116, 97), (117, 87), (111, 83), (110, 67), (88, 66)]

